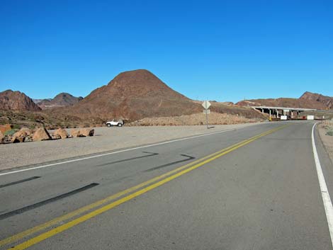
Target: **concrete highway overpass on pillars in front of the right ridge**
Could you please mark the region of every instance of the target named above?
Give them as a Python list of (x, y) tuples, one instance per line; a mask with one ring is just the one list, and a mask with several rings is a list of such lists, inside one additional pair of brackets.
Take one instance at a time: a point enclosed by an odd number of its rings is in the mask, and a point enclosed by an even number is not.
[(269, 117), (280, 118), (281, 115), (287, 115), (290, 118), (297, 117), (301, 112), (317, 111), (312, 108), (286, 108), (286, 107), (270, 107), (270, 106), (252, 106), (255, 110), (269, 114)]

